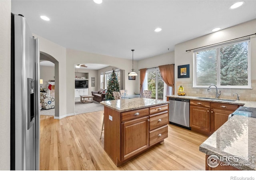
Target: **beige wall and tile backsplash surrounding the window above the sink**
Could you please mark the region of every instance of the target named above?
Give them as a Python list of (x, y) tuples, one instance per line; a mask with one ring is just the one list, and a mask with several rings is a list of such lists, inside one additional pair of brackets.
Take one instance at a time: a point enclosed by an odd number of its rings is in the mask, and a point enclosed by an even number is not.
[[(176, 91), (177, 86), (184, 86), (184, 91), (188, 96), (205, 96), (205, 97), (215, 97), (215, 90), (207, 92), (206, 88), (193, 88), (193, 52), (186, 52), (186, 50), (198, 48), (202, 46), (207, 46), (210, 44), (215, 44), (223, 42), (226, 40), (231, 40), (234, 38), (239, 38), (242, 36), (247, 36), (250, 34), (255, 34), (256, 30), (256, 20), (252, 20), (231, 28), (227, 28), (206, 36), (195, 38), (175, 46), (175, 71), (177, 72), (178, 67), (184, 64), (190, 64), (190, 78), (178, 78), (177, 73), (175, 73)], [(256, 37), (251, 36), (251, 78), (252, 78), (252, 89), (229, 89), (220, 88), (221, 96), (220, 98), (235, 99), (232, 94), (237, 92), (240, 95), (240, 100), (256, 100), (256, 72), (254, 67), (256, 67)]]

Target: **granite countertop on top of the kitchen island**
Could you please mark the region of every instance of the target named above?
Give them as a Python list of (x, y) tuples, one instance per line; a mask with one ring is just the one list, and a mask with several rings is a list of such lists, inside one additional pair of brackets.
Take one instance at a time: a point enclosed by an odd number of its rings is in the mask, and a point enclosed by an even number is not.
[(107, 100), (100, 102), (108, 108), (114, 109), (118, 112), (125, 112), (130, 110), (142, 109), (162, 104), (168, 104), (168, 101), (155, 100), (148, 98), (131, 98), (121, 100)]

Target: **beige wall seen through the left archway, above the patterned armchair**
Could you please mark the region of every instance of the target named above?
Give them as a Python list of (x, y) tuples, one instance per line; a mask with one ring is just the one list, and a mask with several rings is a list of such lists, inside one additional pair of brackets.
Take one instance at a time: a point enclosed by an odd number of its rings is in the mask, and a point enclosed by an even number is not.
[(54, 66), (40, 66), (40, 79), (44, 82), (44, 84), (40, 84), (42, 88), (48, 90), (48, 81), (54, 80), (54, 76)]

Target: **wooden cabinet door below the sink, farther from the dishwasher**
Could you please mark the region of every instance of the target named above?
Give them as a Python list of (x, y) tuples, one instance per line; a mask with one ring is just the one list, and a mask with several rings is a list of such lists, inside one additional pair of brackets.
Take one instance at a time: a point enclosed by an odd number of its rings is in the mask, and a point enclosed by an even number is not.
[(228, 115), (232, 114), (232, 111), (211, 109), (211, 131), (215, 132), (220, 126), (222, 126), (227, 120)]

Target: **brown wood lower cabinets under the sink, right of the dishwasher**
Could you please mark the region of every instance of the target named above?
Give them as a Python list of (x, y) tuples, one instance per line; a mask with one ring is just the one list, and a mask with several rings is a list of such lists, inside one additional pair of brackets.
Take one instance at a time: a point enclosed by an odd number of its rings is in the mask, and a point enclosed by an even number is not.
[(190, 100), (190, 127), (192, 131), (210, 135), (238, 108), (235, 104)]

